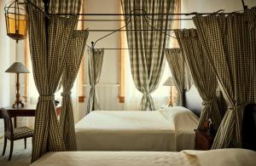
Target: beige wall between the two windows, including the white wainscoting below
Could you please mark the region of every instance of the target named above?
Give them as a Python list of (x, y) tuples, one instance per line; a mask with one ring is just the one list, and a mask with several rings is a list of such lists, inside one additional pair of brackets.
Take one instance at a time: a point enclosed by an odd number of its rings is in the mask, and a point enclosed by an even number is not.
[[(119, 0), (86, 0), (85, 13), (88, 14), (118, 14)], [(86, 19), (119, 19), (119, 16), (86, 16)], [(85, 28), (89, 30), (119, 29), (119, 21), (86, 21)], [(90, 31), (87, 39), (87, 45), (96, 42), (97, 39), (110, 33), (111, 31)], [(96, 43), (97, 49), (119, 48), (120, 34), (119, 31), (103, 38)], [(79, 114), (83, 115), (86, 110), (86, 103), (89, 96), (89, 77), (88, 77), (88, 52), (85, 49), (84, 54), (84, 92), (86, 95), (85, 102), (79, 105)], [(119, 103), (119, 50), (105, 50), (102, 65), (102, 75), (96, 86), (96, 91), (101, 103), (102, 110), (123, 110), (123, 104)]]

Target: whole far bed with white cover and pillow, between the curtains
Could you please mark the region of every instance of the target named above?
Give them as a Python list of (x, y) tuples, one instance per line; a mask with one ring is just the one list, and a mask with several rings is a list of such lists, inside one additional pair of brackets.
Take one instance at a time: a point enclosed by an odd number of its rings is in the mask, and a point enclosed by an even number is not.
[(76, 123), (78, 151), (194, 149), (198, 117), (181, 106), (155, 112), (95, 111)]

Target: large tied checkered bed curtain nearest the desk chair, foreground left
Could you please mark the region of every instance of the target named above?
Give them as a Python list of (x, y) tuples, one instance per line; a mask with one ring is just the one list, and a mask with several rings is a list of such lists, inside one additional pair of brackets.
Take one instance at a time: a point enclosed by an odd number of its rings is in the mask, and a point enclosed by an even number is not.
[(33, 162), (45, 152), (66, 150), (55, 113), (54, 94), (66, 66), (67, 46), (78, 17), (49, 17), (49, 37), (46, 40), (44, 14), (30, 3), (27, 4), (27, 14), (32, 69), (39, 93), (32, 140)]

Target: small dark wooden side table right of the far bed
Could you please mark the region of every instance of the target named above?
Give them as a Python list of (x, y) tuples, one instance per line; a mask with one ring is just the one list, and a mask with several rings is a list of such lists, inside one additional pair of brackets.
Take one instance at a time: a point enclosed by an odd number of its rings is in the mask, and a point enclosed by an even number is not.
[(209, 135), (207, 130), (195, 129), (195, 150), (210, 150), (215, 135)]

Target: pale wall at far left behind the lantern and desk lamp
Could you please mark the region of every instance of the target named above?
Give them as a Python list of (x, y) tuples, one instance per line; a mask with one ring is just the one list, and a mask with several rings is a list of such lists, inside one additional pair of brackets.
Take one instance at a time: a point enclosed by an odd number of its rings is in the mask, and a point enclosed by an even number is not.
[[(15, 55), (15, 40), (6, 35), (6, 26), (4, 19), (4, 6), (9, 3), (8, 0), (0, 1), (0, 107), (10, 106), (15, 102), (15, 74), (6, 73), (15, 61), (24, 64), (24, 42), (18, 45), (18, 54)], [(20, 95), (24, 95), (24, 74), (20, 74)], [(22, 98), (23, 99), (23, 98)], [(21, 122), (22, 121), (22, 122)], [(21, 118), (18, 119), (19, 125), (25, 124)], [(0, 120), (0, 137), (3, 135), (3, 119)]]

